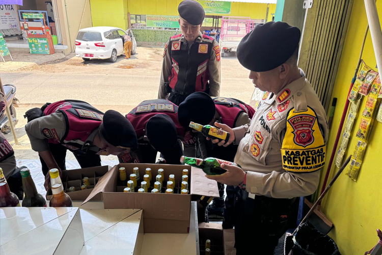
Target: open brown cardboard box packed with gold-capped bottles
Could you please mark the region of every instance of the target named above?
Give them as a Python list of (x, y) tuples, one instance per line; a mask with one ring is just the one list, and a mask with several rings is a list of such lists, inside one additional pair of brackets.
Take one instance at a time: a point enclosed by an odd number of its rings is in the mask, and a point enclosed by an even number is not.
[[(151, 168), (152, 177), (158, 173), (158, 169), (165, 170), (166, 183), (170, 174), (175, 175), (176, 186), (181, 182), (182, 170), (189, 172), (189, 194), (166, 194), (166, 193), (123, 193), (123, 187), (117, 187), (119, 180), (119, 168), (125, 167), (127, 176), (132, 173), (134, 167), (139, 168), (140, 181), (146, 168)], [(121, 192), (117, 192), (117, 190)], [(219, 197), (217, 184), (205, 177), (205, 173), (198, 168), (184, 165), (161, 165), (161, 164), (119, 164), (114, 166), (96, 184), (89, 197), (101, 194), (105, 209), (143, 209), (145, 233), (188, 233), (191, 194)], [(83, 203), (83, 204), (84, 204)]]

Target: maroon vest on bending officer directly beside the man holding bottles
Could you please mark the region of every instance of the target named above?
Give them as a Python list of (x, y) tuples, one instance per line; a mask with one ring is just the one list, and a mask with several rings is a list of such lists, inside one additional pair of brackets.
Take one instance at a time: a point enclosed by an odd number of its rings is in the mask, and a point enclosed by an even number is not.
[(231, 129), (236, 126), (237, 118), (241, 113), (247, 113), (250, 119), (255, 114), (255, 109), (238, 99), (228, 97), (212, 97), (212, 99), (222, 123), (228, 125)]

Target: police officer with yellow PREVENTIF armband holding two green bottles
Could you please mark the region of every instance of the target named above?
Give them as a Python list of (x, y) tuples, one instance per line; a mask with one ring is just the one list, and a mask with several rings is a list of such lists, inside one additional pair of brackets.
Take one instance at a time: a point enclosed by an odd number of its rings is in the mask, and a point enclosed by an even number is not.
[[(255, 87), (266, 91), (250, 124), (231, 129), (239, 144), (223, 175), (207, 176), (239, 188), (235, 198), (237, 254), (273, 254), (285, 233), (294, 197), (312, 194), (324, 166), (328, 123), (304, 72), (297, 67), (300, 31), (284, 22), (258, 24), (237, 49)], [(254, 254), (253, 252), (253, 254)]]

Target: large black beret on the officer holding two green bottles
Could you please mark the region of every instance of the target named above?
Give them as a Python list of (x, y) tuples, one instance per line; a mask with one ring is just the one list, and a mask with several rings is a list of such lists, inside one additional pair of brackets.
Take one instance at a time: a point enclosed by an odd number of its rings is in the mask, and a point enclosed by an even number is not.
[(257, 24), (241, 39), (237, 59), (245, 68), (265, 72), (284, 64), (298, 47), (301, 32), (285, 22)]

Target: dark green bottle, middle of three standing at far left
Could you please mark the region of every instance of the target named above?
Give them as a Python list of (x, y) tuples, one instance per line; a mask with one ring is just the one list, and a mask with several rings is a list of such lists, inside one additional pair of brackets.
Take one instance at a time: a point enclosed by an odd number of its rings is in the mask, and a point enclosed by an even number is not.
[(21, 177), (22, 188), (24, 189), (25, 194), (21, 205), (23, 207), (46, 207), (46, 200), (37, 192), (36, 185), (31, 176), (31, 171), (28, 168), (22, 169)]

